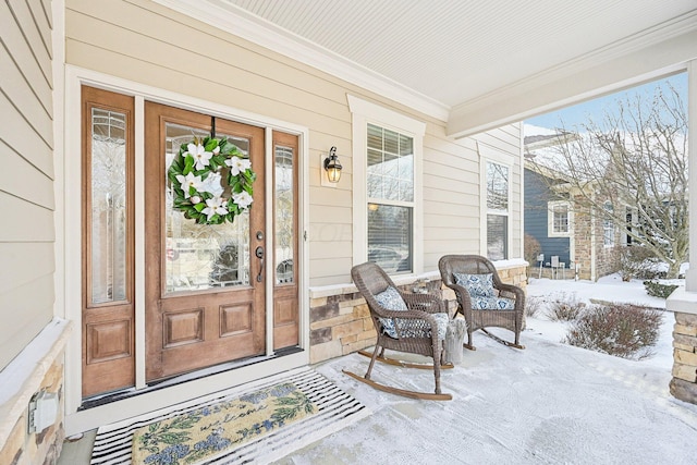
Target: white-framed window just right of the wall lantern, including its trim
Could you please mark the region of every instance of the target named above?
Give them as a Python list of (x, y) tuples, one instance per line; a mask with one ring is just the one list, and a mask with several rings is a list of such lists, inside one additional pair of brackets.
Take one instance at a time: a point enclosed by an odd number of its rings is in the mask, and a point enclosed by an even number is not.
[[(421, 154), (426, 124), (348, 96), (353, 113), (354, 264), (423, 271)], [(418, 240), (417, 240), (418, 237)]]

